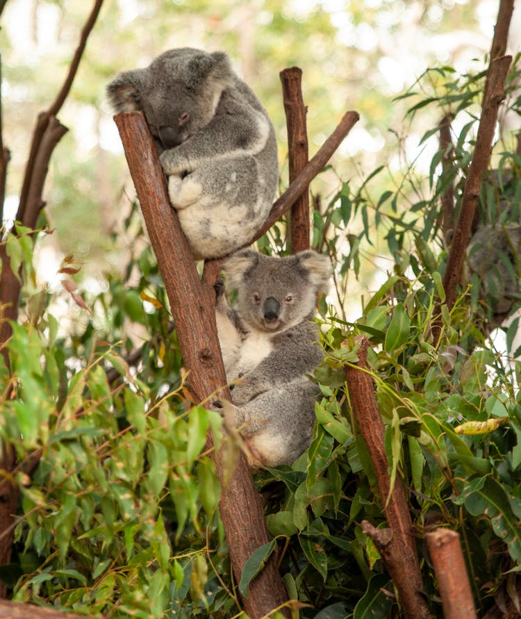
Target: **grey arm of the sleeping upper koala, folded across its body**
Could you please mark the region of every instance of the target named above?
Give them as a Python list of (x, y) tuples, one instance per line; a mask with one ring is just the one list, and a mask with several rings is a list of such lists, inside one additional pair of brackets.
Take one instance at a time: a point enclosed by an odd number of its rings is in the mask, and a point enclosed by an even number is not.
[(190, 174), (215, 158), (255, 155), (263, 150), (271, 124), (259, 110), (224, 92), (210, 122), (188, 140), (160, 155), (166, 174)]

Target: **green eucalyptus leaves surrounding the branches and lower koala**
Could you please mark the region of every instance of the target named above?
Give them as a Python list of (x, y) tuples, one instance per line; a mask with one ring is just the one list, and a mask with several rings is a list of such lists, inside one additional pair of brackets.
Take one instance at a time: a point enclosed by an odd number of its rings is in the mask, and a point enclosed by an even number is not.
[[(519, 112), (517, 67), (507, 103)], [(453, 183), (457, 213), (482, 89), (482, 73), (458, 76), (441, 67), (405, 95), (415, 121), (428, 110), (430, 117), (452, 115), (449, 176), (435, 149), (425, 174), (408, 165), (392, 185), (395, 173), (379, 166), (359, 187), (343, 183), (314, 213), (313, 245), (336, 265), (334, 306), (320, 302), (326, 357), (315, 372), (322, 389), (317, 423), (296, 463), (256, 475), (273, 540), (242, 575), (230, 573), (205, 443), (209, 430), (217, 447), (226, 445), (220, 418), (184, 399), (181, 354), (150, 249), (131, 254), (124, 277), (111, 276), (97, 295), (69, 286), (42, 296), (31, 267), (38, 239), (20, 228), (8, 235), (9, 255), (24, 265), (27, 317), (13, 325), (8, 343), (12, 376), (0, 367), (1, 438), (19, 461), (15, 555), (0, 571), (14, 599), (108, 617), (230, 618), (240, 616), (235, 587), (247, 591), (276, 553), (295, 616), (397, 616), (392, 583), (360, 525), (386, 523), (345, 390), (357, 334), (370, 338), (390, 475), (401, 476), (409, 491), (433, 616), (442, 616), (441, 606), (423, 538), (435, 525), (461, 533), (481, 612), (511, 591), (521, 560), (521, 365), (486, 338), (481, 325), (490, 313), (476, 286), (463, 288), (448, 311), (441, 283), (440, 200)], [(438, 129), (429, 127), (421, 141), (435, 140)], [(499, 175), (493, 190), (483, 181), (480, 215), (483, 222), (493, 215), (515, 220), (520, 159), (512, 138), (495, 161), (497, 170), (511, 171), (509, 180)], [(138, 238), (136, 217), (133, 211), (126, 230)], [(348, 320), (353, 278), (371, 271), (383, 241), (390, 269), (365, 280), (363, 311)], [(283, 251), (283, 226), (259, 246)], [(71, 261), (60, 271), (75, 277)], [(58, 297), (78, 313), (80, 326), (66, 336), (53, 317)], [(129, 323), (146, 334), (132, 366), (125, 360), (133, 347)], [(506, 336), (513, 342), (513, 329)]]

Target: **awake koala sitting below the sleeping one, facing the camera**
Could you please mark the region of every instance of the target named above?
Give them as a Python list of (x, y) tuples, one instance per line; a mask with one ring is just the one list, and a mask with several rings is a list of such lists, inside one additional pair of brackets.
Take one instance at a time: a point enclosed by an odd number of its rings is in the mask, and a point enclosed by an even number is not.
[(318, 389), (306, 374), (322, 360), (313, 324), (317, 292), (326, 290), (326, 256), (301, 251), (263, 256), (251, 249), (224, 263), (230, 308), (217, 288), (216, 318), (232, 403), (225, 415), (245, 439), (255, 466), (290, 464), (311, 443)]

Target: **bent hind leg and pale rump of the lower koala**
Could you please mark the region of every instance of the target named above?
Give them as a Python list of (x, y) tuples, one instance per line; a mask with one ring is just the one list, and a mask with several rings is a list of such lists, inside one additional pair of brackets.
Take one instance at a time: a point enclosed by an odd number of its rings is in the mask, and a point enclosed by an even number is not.
[(264, 466), (290, 464), (313, 437), (317, 386), (306, 377), (233, 406), (235, 427)]

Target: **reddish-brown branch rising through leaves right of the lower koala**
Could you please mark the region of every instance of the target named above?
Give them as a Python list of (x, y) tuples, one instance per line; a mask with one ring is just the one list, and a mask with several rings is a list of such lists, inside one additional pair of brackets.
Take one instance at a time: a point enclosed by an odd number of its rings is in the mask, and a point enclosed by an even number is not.
[[(374, 543), (381, 544), (382, 559), (398, 591), (399, 602), (408, 619), (421, 619), (430, 616), (423, 596), (423, 583), (420, 574), (413, 523), (409, 512), (406, 491), (402, 480), (396, 477), (393, 488), (390, 487), (388, 459), (385, 448), (385, 427), (374, 396), (372, 379), (367, 374), (367, 337), (355, 338), (358, 349), (357, 367), (345, 367), (345, 378), (349, 402), (358, 431), (370, 454), (374, 473), (377, 477), (380, 500), (389, 525), (390, 534), (386, 539), (374, 536)], [(372, 528), (366, 527), (372, 538)], [(386, 541), (383, 544), (383, 541)]]

